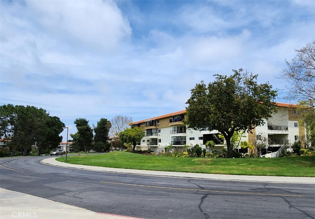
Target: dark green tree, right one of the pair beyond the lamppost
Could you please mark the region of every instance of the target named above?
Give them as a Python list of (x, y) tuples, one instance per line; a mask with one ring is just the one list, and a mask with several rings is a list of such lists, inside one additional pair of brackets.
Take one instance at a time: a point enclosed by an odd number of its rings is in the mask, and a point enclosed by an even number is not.
[(108, 141), (108, 133), (111, 128), (111, 122), (107, 119), (101, 118), (94, 126), (94, 144), (93, 149), (96, 152), (101, 152), (102, 150), (107, 151), (110, 148)]

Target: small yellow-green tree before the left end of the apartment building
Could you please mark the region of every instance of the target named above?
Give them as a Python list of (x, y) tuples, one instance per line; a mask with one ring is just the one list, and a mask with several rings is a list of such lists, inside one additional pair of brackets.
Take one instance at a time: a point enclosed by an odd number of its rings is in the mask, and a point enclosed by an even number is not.
[(127, 128), (119, 133), (119, 137), (123, 143), (132, 143), (132, 152), (135, 152), (137, 142), (140, 142), (145, 135), (143, 129), (140, 127)]

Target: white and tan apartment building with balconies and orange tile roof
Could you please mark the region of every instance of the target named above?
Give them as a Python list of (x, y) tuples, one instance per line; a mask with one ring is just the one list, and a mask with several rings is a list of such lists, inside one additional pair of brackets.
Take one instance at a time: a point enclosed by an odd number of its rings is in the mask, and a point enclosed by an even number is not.
[[(296, 109), (297, 106), (283, 103), (276, 103), (276, 105), (277, 112), (268, 120), (264, 119), (265, 124), (255, 127), (252, 133), (245, 133), (246, 137), (242, 139), (267, 137), (269, 147), (264, 150), (263, 154), (270, 153), (271, 156), (284, 145), (290, 145), (299, 139), (303, 141), (305, 137), (305, 128), (303, 124), (299, 123), (300, 117)], [(133, 122), (132, 127), (141, 127), (146, 133), (141, 142), (137, 143), (136, 149), (150, 149), (157, 152), (164, 150), (164, 147), (169, 144), (180, 148), (183, 148), (184, 145), (199, 144), (205, 148), (205, 143), (210, 140), (216, 143), (216, 150), (221, 151), (226, 148), (224, 139), (219, 138), (217, 130), (203, 131), (187, 128), (183, 124), (185, 114), (186, 110), (182, 110)], [(240, 147), (237, 150), (242, 153), (249, 152), (240, 149)]]

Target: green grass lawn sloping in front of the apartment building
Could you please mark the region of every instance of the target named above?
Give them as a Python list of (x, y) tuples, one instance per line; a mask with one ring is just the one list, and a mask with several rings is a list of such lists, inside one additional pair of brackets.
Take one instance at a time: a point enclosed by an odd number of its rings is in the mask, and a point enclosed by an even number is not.
[[(64, 162), (65, 157), (56, 160)], [(279, 158), (163, 157), (113, 151), (71, 156), (67, 163), (114, 168), (256, 176), (315, 177), (314, 156)]]

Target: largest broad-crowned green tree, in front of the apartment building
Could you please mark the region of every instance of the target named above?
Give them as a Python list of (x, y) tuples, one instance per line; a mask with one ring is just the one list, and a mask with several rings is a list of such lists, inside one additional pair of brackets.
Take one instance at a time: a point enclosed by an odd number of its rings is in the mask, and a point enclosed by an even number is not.
[(188, 128), (218, 130), (224, 136), (227, 157), (232, 158), (234, 132), (251, 131), (271, 117), (277, 92), (269, 83), (258, 84), (257, 75), (233, 70), (232, 76), (215, 75), (206, 86), (203, 81), (191, 90), (186, 104)]

